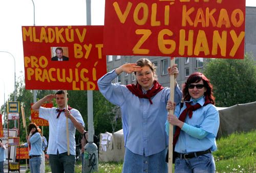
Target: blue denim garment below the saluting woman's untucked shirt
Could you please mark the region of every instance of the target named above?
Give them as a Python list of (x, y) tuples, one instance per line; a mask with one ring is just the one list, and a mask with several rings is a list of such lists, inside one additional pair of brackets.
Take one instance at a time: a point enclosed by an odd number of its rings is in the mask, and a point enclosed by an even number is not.
[(167, 149), (164, 149), (160, 153), (145, 157), (125, 148), (122, 173), (167, 173), (166, 153)]

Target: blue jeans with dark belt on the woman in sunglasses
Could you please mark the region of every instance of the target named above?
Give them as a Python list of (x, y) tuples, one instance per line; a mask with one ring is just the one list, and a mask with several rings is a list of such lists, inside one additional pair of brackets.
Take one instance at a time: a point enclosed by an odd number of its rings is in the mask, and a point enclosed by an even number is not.
[(214, 157), (210, 153), (191, 159), (175, 159), (177, 173), (214, 173), (215, 171)]

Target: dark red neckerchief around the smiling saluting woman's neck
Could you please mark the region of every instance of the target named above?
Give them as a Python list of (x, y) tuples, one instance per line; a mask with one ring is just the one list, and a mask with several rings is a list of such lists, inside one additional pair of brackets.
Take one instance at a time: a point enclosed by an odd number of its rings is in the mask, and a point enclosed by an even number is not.
[(136, 85), (129, 84), (129, 85), (126, 85), (126, 87), (137, 97), (146, 98), (150, 101), (151, 104), (153, 104), (151, 97), (155, 96), (158, 92), (160, 92), (163, 89), (162, 85), (160, 83), (158, 83), (158, 81), (155, 80), (153, 83), (154, 83), (154, 85), (153, 85), (152, 89), (148, 90), (146, 92), (146, 94), (143, 94), (141, 85), (138, 82)]

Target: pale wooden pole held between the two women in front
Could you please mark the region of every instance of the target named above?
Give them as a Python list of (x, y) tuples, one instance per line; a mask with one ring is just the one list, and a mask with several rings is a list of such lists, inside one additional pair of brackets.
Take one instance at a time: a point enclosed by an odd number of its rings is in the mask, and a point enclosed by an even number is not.
[[(170, 67), (175, 64), (175, 57), (170, 58)], [(170, 98), (169, 100), (174, 103), (174, 90), (175, 90), (175, 75), (170, 75)], [(174, 114), (174, 110), (169, 110), (169, 114)], [(169, 155), (168, 155), (168, 173), (173, 172), (173, 139), (174, 139), (174, 128), (169, 123)]]

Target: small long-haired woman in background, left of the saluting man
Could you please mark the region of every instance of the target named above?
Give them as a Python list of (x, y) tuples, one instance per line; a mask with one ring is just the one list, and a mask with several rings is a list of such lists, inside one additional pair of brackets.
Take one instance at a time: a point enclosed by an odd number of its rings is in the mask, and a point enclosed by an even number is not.
[(31, 173), (39, 173), (40, 165), (42, 162), (42, 137), (38, 132), (37, 125), (35, 123), (30, 123), (28, 126), (29, 136), (27, 143), (23, 144), (26, 147), (31, 146), (29, 151), (29, 168)]

